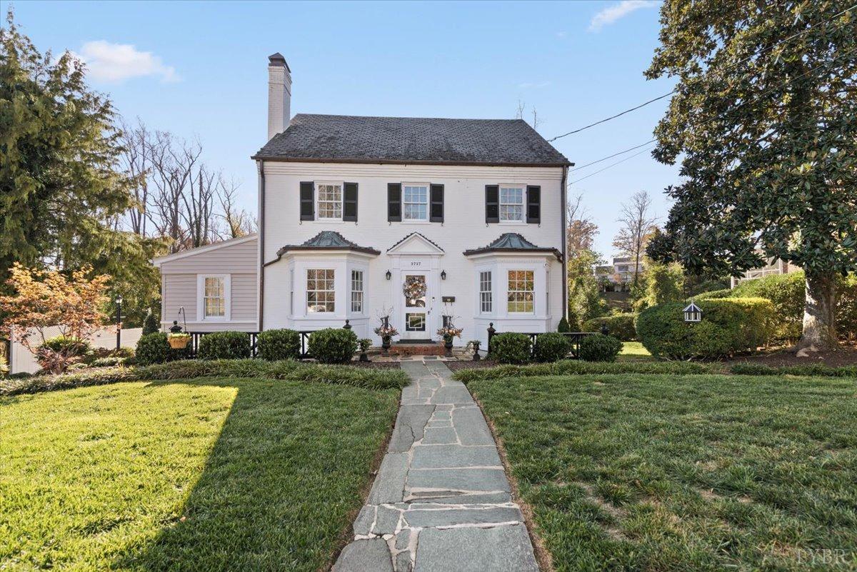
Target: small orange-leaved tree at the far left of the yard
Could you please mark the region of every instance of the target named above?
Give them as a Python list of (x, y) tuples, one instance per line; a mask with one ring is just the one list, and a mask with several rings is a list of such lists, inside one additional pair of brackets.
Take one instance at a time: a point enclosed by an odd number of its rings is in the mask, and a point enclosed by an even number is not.
[[(105, 289), (110, 277), (89, 277), (85, 267), (66, 277), (57, 271), (41, 271), (15, 264), (9, 270), (12, 295), (0, 296), (3, 330), (30, 350), (39, 365), (62, 372), (79, 360), (87, 340), (104, 322)], [(56, 328), (69, 343), (45, 344), (48, 328)]]

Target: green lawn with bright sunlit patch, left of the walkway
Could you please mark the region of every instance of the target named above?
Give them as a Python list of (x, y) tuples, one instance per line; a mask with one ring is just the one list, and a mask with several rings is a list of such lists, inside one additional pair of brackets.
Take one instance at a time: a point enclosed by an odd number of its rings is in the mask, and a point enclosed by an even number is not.
[(398, 397), (207, 378), (0, 399), (0, 569), (323, 569)]

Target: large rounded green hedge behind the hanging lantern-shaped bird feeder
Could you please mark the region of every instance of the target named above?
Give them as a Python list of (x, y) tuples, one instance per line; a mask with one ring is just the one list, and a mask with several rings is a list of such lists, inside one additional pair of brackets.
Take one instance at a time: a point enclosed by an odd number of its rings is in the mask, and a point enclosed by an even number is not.
[(637, 335), (650, 354), (670, 360), (713, 360), (746, 353), (768, 343), (774, 305), (764, 298), (698, 300), (703, 319), (686, 323), (684, 302), (646, 308), (637, 318)]

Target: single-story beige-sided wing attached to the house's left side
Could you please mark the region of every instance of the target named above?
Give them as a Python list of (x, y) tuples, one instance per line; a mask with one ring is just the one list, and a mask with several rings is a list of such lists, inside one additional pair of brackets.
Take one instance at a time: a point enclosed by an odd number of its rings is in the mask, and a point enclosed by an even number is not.
[(161, 273), (161, 326), (188, 331), (258, 331), (259, 237), (153, 259)]

